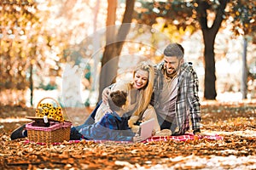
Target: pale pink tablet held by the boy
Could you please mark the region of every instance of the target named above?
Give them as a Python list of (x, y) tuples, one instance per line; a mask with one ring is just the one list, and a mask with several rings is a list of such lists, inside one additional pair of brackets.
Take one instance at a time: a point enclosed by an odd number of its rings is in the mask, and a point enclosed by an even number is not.
[(142, 122), (140, 124), (140, 136), (143, 140), (148, 139), (152, 136), (152, 131), (154, 129), (154, 118), (149, 119), (148, 121)]

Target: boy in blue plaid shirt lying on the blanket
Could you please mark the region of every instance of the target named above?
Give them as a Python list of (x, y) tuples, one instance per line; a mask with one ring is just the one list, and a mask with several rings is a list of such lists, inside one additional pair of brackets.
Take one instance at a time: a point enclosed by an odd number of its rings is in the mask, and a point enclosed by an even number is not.
[(77, 130), (82, 134), (81, 138), (134, 142), (142, 141), (143, 139), (136, 135), (136, 133), (133, 133), (128, 126), (129, 117), (125, 114), (127, 104), (127, 93), (118, 90), (109, 94), (108, 105), (113, 112), (106, 113), (100, 122), (79, 127)]

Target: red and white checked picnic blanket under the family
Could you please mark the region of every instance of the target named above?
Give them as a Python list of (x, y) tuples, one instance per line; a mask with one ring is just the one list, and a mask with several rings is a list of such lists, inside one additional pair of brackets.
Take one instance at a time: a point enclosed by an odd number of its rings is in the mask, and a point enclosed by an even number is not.
[[(218, 134), (212, 134), (212, 135), (194, 135), (193, 133), (185, 133), (183, 135), (178, 136), (153, 136), (149, 139), (143, 140), (142, 143), (148, 143), (153, 141), (168, 141), (168, 140), (176, 140), (176, 141), (186, 141), (186, 140), (195, 140), (195, 139), (208, 139), (208, 140), (222, 140), (224, 139), (223, 136), (219, 136)], [(131, 141), (112, 141), (112, 140), (85, 140), (85, 141), (92, 141), (96, 143), (106, 143), (106, 142), (112, 142), (112, 143), (119, 143), (119, 144), (131, 144), (133, 142)], [(73, 143), (79, 143), (81, 140), (69, 140), (66, 143), (73, 144)], [(28, 139), (25, 141), (26, 144), (32, 143)], [(36, 143), (36, 144), (45, 144), (45, 143)], [(63, 143), (53, 143), (55, 144), (63, 144)], [(65, 143), (64, 143), (65, 144)]]

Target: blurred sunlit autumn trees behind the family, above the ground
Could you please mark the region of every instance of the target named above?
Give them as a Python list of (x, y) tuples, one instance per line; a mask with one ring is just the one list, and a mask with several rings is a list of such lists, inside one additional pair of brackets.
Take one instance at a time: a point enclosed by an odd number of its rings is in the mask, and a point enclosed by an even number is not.
[[(51, 96), (67, 107), (94, 106), (113, 81), (101, 76), (103, 65), (119, 56), (118, 67), (102, 72), (117, 81), (131, 77), (125, 70), (145, 59), (160, 62), (168, 42), (181, 43), (185, 60), (193, 62), (201, 101), (253, 99), (255, 2), (227, 2), (2, 1), (1, 104), (36, 106)], [(130, 31), (120, 27), (126, 23)], [(129, 41), (117, 45), (118, 38)]]

